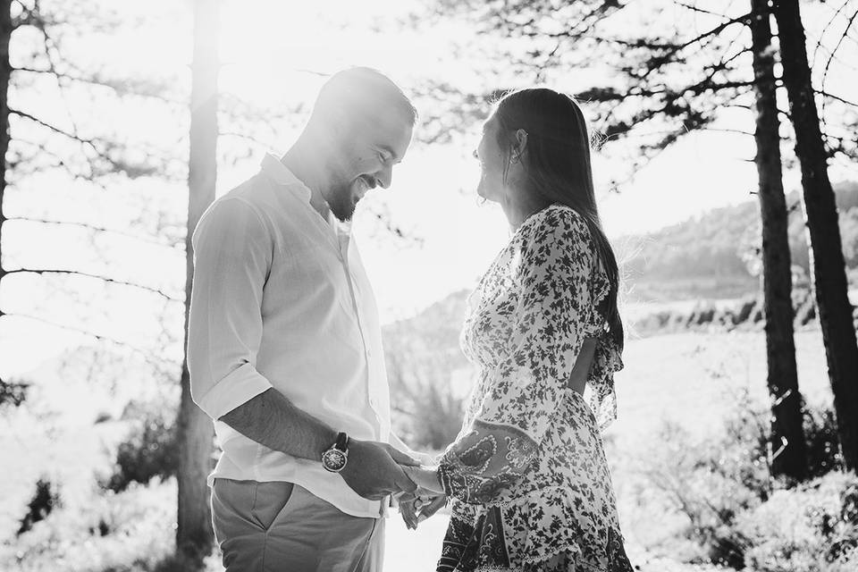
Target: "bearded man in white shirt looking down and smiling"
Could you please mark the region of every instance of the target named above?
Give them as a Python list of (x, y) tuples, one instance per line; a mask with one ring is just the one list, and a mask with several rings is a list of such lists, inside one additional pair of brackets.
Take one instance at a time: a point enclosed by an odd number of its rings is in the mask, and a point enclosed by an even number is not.
[(198, 223), (188, 363), (223, 447), (209, 484), (228, 572), (380, 570), (389, 495), (416, 488), (349, 233), (415, 120), (378, 71), (341, 71), (289, 151)]

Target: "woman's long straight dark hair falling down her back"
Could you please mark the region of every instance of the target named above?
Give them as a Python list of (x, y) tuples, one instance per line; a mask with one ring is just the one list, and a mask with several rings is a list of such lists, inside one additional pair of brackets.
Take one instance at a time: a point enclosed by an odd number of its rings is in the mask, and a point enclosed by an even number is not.
[(501, 127), (498, 143), (505, 154), (504, 180), (516, 130), (525, 130), (526, 153), (522, 158), (526, 159), (526, 172), (536, 193), (546, 205), (559, 203), (569, 206), (586, 221), (596, 254), (610, 282), (608, 299), (602, 308), (610, 336), (622, 351), (625, 333), (617, 307), (617, 257), (601, 228), (596, 208), (590, 138), (584, 114), (571, 97), (548, 88), (532, 88), (503, 97), (497, 104), (495, 117)]

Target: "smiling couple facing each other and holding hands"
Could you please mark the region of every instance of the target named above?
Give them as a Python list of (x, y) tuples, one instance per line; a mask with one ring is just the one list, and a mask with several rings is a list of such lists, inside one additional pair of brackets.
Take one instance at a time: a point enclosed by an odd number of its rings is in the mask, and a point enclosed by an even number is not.
[(286, 154), (194, 232), (188, 365), (223, 450), (209, 476), (223, 566), (378, 572), (391, 505), (416, 527), (450, 503), (438, 570), (630, 572), (600, 434), (622, 367), (617, 261), (570, 97), (493, 106), (477, 193), (511, 238), (468, 299), (460, 341), (479, 373), (462, 430), (439, 458), (391, 433), (349, 222), (391, 185), (415, 122), (383, 74), (340, 71)]

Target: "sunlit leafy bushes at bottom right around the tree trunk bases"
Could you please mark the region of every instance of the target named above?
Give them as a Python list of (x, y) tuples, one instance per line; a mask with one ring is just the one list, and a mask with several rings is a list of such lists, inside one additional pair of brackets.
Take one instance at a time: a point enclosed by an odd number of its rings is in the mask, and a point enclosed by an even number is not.
[(639, 498), (686, 518), (679, 538), (696, 548), (690, 560), (761, 572), (821, 572), (841, 560), (858, 562), (858, 480), (842, 472), (832, 412), (806, 410), (813, 480), (801, 484), (772, 478), (768, 421), (745, 395), (723, 432), (702, 441), (665, 425), (654, 440), (660, 448), (642, 459)]

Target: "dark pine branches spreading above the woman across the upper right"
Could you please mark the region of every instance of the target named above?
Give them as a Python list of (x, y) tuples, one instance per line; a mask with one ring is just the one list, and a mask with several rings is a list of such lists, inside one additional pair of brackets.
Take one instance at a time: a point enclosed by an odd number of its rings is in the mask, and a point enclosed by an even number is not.
[[(483, 66), (492, 74), (480, 94), (484, 101), (498, 88), (545, 82), (585, 101), (605, 148), (623, 152), (630, 170), (611, 173), (613, 188), (621, 188), (653, 157), (689, 133), (712, 130), (753, 136), (749, 32), (753, 13), (748, 3), (651, 2), (644, 6), (623, 0), (434, 0), (428, 4), (438, 18), (464, 19), (478, 30), (457, 49), (485, 52)], [(823, 16), (828, 25), (819, 30), (819, 37), (811, 30), (808, 39), (828, 51), (824, 66), (812, 66), (814, 88), (823, 101), (826, 150), (830, 156), (854, 160), (858, 153), (850, 130), (854, 104), (826, 88), (829, 67), (833, 71), (839, 66), (837, 51), (842, 44), (842, 39), (832, 41), (826, 34), (844, 25), (848, 28), (854, 20), (849, 10), (844, 12), (848, 4), (828, 10)], [(431, 19), (422, 21), (432, 25)], [(458, 115), (458, 125), (450, 122), (453, 129), (470, 124), (473, 114), (467, 103), (473, 97), (462, 94), (459, 98), (466, 104), (462, 105), (465, 111)], [(455, 113), (451, 105), (450, 113)], [(736, 117), (744, 117), (748, 127), (736, 129)]]

